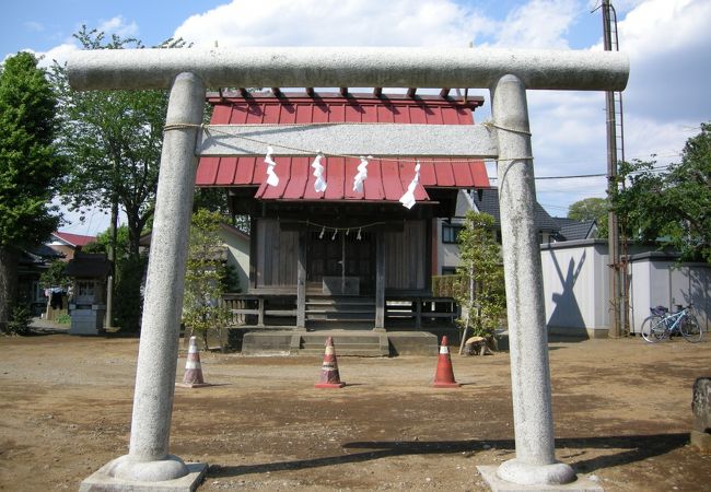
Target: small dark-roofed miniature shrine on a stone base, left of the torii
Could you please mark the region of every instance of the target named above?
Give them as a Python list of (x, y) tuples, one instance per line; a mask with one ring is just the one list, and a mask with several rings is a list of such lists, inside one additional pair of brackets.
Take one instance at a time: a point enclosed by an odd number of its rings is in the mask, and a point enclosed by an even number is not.
[(66, 273), (73, 277), (72, 298), (69, 304), (72, 335), (104, 332), (106, 316), (106, 277), (110, 262), (104, 254), (75, 253), (67, 263)]

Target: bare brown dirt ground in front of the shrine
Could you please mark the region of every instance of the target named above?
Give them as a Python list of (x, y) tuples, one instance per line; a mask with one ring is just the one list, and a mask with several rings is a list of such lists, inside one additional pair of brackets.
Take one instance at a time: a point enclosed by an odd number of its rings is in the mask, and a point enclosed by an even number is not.
[[(77, 490), (128, 450), (138, 340), (0, 337), (0, 490)], [(336, 348), (338, 351), (338, 348)], [(200, 491), (487, 490), (477, 465), (514, 457), (508, 353), (453, 355), (464, 386), (433, 389), (436, 358), (201, 353), (215, 386), (176, 388), (171, 452), (210, 464)], [(558, 459), (606, 491), (711, 490), (688, 446), (691, 385), (711, 341), (550, 344)], [(178, 361), (183, 377), (185, 354)]]

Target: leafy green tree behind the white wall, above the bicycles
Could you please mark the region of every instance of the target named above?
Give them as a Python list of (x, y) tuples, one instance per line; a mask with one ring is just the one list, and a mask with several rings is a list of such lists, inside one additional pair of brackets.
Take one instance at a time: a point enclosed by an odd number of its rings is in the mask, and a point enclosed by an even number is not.
[(672, 246), (683, 260), (711, 262), (711, 122), (687, 140), (681, 163), (660, 169), (654, 161), (622, 163), (628, 186), (615, 210), (628, 237)]

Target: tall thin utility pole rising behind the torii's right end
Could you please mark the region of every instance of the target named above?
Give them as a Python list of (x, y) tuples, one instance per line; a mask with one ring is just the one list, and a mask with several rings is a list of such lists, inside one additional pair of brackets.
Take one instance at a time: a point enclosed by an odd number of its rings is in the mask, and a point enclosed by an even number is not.
[[(617, 14), (609, 0), (603, 0), (603, 42), (605, 51), (617, 51), (619, 49), (617, 38)], [(607, 214), (607, 249), (609, 257), (609, 300), (610, 300), (610, 328), (609, 337), (619, 338), (623, 327), (627, 325), (627, 303), (622, 291), (626, 283), (626, 272), (621, 269), (620, 262), (620, 238), (617, 214), (611, 209), (615, 197), (618, 192), (617, 163), (623, 157), (623, 134), (622, 134), (622, 98), (621, 94), (615, 91), (607, 91), (605, 94), (607, 115), (607, 200), (610, 206)], [(619, 114), (619, 122), (617, 116)], [(618, 155), (619, 149), (619, 155)]]

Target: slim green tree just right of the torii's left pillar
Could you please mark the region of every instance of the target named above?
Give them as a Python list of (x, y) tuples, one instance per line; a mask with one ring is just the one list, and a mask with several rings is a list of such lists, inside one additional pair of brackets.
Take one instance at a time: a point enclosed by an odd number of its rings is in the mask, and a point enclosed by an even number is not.
[(229, 312), (222, 305), (225, 278), (224, 246), (220, 237), (219, 212), (200, 209), (193, 214), (185, 274), (183, 323), (190, 333), (202, 337), (208, 348), (208, 330), (222, 329)]

